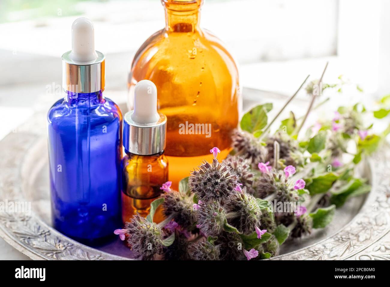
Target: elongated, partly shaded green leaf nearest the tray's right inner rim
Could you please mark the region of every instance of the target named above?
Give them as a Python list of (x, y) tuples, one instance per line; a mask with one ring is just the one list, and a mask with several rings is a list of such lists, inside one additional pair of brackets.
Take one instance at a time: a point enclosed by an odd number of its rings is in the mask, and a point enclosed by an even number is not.
[(338, 190), (332, 191), (330, 202), (336, 205), (336, 207), (341, 207), (349, 198), (368, 193), (369, 191), (371, 191), (371, 185), (365, 184), (360, 178), (354, 178), (346, 182)]

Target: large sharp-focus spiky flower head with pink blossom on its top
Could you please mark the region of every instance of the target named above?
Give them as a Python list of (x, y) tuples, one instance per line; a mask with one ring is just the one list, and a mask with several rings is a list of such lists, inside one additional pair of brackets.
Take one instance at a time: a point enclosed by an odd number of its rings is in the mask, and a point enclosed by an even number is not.
[(238, 175), (230, 166), (214, 159), (212, 164), (203, 162), (198, 171), (188, 178), (188, 185), (202, 202), (224, 201), (238, 184)]

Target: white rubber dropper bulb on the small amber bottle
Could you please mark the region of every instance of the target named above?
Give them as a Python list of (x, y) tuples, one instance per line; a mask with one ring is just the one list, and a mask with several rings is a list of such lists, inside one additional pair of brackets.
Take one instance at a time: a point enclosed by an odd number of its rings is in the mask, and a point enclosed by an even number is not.
[(139, 81), (134, 88), (134, 112), (136, 123), (154, 123), (160, 118), (157, 112), (157, 87), (149, 80)]

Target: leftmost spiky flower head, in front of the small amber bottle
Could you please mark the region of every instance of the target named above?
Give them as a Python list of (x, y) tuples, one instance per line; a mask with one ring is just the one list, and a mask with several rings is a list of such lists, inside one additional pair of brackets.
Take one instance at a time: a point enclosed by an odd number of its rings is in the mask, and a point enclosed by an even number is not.
[(149, 222), (136, 214), (131, 221), (126, 222), (125, 229), (129, 235), (127, 241), (136, 257), (151, 260), (155, 254), (161, 252), (165, 234), (156, 223)]

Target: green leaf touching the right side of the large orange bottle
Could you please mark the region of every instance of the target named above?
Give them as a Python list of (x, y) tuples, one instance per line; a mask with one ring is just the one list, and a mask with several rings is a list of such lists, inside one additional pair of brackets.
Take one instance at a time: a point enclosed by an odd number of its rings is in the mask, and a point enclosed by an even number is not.
[(253, 133), (262, 130), (268, 121), (267, 112), (271, 111), (272, 103), (258, 105), (244, 114), (241, 119), (240, 127), (242, 130)]

